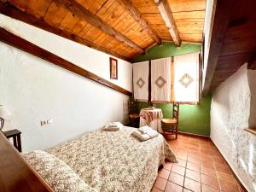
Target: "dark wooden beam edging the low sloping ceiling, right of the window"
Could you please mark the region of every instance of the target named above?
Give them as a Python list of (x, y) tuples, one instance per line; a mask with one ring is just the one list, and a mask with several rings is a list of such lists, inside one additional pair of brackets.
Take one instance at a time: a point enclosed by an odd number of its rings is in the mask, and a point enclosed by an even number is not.
[[(236, 3), (236, 0), (217, 0), (215, 14), (212, 15), (212, 38), (209, 47), (209, 55), (207, 59), (207, 72), (205, 76), (205, 83), (203, 86), (203, 95), (206, 96), (209, 92), (213, 74), (217, 67), (218, 55), (220, 54), (222, 44), (224, 42), (224, 35), (230, 23), (230, 16), (232, 11), (230, 8)], [(207, 44), (207, 42), (206, 42)]]

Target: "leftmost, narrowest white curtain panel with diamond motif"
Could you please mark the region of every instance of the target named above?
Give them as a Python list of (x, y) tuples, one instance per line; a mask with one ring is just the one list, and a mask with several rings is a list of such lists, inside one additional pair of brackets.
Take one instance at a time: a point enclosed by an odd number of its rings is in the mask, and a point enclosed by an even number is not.
[(133, 63), (132, 70), (134, 99), (140, 102), (148, 102), (149, 62)]

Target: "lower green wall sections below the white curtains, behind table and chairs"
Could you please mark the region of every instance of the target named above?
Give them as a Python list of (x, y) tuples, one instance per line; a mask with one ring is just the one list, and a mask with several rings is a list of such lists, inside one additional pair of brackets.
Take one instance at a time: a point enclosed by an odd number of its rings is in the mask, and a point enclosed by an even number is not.
[[(212, 96), (201, 99), (199, 105), (180, 105), (178, 131), (210, 136), (210, 110)], [(172, 104), (156, 104), (164, 118), (172, 118)], [(148, 108), (148, 102), (137, 102), (137, 109)]]

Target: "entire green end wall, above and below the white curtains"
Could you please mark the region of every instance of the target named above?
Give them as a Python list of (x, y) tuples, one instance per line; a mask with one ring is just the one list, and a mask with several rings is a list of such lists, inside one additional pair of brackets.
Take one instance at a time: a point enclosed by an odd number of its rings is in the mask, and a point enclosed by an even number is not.
[[(173, 55), (183, 55), (201, 51), (201, 44), (182, 44), (177, 48), (173, 42), (164, 42), (162, 45), (154, 45), (147, 49), (145, 55), (137, 55), (132, 62), (148, 61)], [(179, 131), (193, 134), (210, 136), (210, 109), (212, 96), (201, 99), (199, 105), (181, 105), (179, 114)], [(147, 102), (135, 102), (136, 107), (131, 110), (139, 111), (141, 108), (147, 108)], [(165, 118), (172, 117), (172, 104), (157, 104), (161, 108)]]

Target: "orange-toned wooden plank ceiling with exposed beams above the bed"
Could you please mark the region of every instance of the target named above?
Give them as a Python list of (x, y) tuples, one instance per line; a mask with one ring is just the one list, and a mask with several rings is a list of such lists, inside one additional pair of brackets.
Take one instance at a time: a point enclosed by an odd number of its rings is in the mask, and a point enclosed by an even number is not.
[[(0, 13), (130, 61), (172, 41), (154, 0), (0, 0)], [(206, 0), (165, 0), (183, 42), (201, 43)]]

